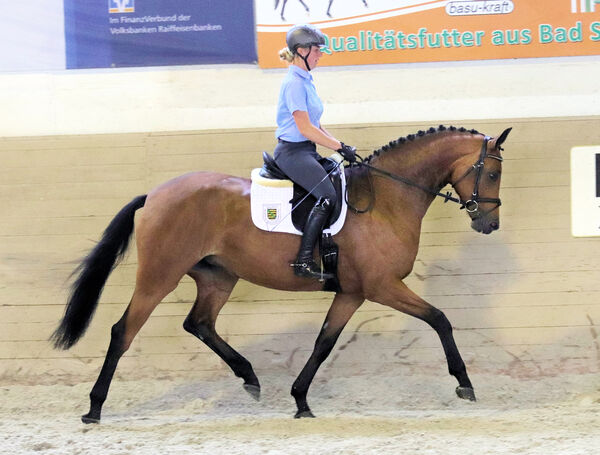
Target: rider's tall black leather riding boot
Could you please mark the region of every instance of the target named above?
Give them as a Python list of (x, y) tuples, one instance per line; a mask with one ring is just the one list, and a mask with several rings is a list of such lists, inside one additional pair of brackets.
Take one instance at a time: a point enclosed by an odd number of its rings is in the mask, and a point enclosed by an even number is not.
[(331, 201), (327, 198), (320, 198), (310, 211), (310, 215), (308, 215), (306, 225), (304, 226), (304, 234), (300, 241), (300, 251), (298, 251), (296, 263), (292, 264), (294, 273), (297, 276), (323, 280), (334, 277), (331, 273), (321, 272), (321, 268), (315, 263), (313, 258), (315, 245), (332, 210), (333, 204)]

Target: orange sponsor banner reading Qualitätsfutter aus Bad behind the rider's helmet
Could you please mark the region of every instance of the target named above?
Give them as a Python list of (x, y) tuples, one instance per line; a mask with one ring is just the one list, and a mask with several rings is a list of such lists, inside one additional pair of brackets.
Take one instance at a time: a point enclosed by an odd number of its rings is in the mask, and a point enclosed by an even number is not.
[(258, 62), (294, 24), (327, 36), (319, 65), (600, 54), (600, 0), (258, 0)]

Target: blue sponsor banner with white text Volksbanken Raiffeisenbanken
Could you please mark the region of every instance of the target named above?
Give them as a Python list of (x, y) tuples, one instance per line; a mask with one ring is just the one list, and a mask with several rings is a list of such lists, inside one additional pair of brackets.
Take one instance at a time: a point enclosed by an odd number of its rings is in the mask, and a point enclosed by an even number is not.
[(252, 0), (65, 0), (67, 68), (256, 61)]

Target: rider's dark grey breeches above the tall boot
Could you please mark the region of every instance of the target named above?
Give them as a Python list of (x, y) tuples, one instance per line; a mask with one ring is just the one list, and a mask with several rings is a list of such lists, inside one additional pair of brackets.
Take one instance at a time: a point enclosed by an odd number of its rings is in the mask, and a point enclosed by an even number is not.
[(313, 142), (279, 142), (273, 157), (292, 181), (317, 199), (326, 197), (335, 204), (335, 188), (318, 162), (321, 156)]

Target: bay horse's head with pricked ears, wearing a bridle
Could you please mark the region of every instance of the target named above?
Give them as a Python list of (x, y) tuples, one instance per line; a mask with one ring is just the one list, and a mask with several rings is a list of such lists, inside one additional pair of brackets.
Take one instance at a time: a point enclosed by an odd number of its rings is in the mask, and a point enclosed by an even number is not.
[(453, 172), (454, 189), (463, 207), (471, 217), (471, 227), (477, 232), (490, 234), (500, 227), (500, 176), (502, 174), (501, 145), (512, 128), (496, 137), (485, 137), (481, 148), (463, 157)]

